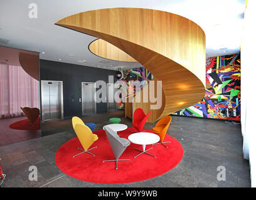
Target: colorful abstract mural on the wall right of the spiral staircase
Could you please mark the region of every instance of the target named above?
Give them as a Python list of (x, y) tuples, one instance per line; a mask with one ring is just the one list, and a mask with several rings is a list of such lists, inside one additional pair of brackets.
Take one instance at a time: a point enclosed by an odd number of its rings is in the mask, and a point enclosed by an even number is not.
[(205, 97), (175, 114), (228, 119), (227, 108), (232, 108), (232, 120), (240, 121), (240, 78), (240, 54), (207, 58)]

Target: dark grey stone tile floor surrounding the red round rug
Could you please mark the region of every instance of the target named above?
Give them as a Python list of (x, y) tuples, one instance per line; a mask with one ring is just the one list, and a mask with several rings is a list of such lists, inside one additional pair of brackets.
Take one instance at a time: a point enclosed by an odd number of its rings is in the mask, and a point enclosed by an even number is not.
[[(100, 114), (88, 121), (95, 123), (96, 129), (102, 129), (109, 124), (109, 116), (112, 114)], [(240, 124), (173, 116), (168, 134), (184, 148), (183, 159), (176, 168), (136, 183), (95, 184), (67, 176), (56, 167), (57, 149), (75, 137), (72, 128), (67, 127), (71, 125), (66, 123), (67, 130), (60, 129), (61, 133), (1, 147), (0, 163), (7, 174), (2, 187), (250, 187), (249, 164), (242, 156)], [(131, 127), (129, 119), (122, 118), (121, 123)], [(58, 124), (64, 126), (58, 121), (52, 128)], [(145, 128), (153, 126), (147, 123)], [(31, 165), (38, 168), (38, 181), (28, 180)], [(226, 181), (217, 180), (218, 166), (225, 166)]]

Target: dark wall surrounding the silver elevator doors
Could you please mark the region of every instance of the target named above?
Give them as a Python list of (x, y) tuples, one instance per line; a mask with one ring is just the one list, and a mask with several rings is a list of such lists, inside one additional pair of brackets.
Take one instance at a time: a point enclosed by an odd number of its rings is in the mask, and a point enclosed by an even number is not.
[[(82, 116), (82, 82), (99, 80), (109, 83), (109, 76), (116, 71), (90, 68), (78, 64), (60, 63), (40, 59), (40, 80), (63, 81), (63, 114), (64, 118)], [(73, 99), (73, 101), (72, 101)], [(107, 103), (97, 103), (97, 113), (107, 112)]]

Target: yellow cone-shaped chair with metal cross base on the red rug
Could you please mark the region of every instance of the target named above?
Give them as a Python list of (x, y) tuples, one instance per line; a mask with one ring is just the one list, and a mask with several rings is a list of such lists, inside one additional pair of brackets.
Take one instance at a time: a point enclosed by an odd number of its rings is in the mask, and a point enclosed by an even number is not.
[[(74, 118), (74, 119), (73, 119)], [(83, 153), (89, 153), (89, 154), (92, 154), (90, 153), (89, 151), (92, 150), (92, 149), (95, 149), (97, 148), (97, 146), (95, 146), (94, 148), (91, 148), (91, 149), (88, 149), (90, 148), (90, 146), (92, 146), (92, 144), (97, 141), (98, 139), (98, 136), (96, 134), (93, 134), (91, 129), (88, 128), (88, 126), (85, 126), (84, 124), (81, 124), (81, 121), (79, 121), (77, 117), (73, 117), (72, 118), (72, 124), (73, 124), (73, 127), (74, 127), (74, 130), (75, 130), (75, 133), (77, 134), (77, 138), (79, 139), (80, 143), (82, 144), (82, 147), (83, 149), (81, 148), (78, 148), (80, 150), (82, 150), (83, 152), (82, 153), (79, 153), (75, 156), (78, 156), (80, 154), (83, 154)], [(77, 123), (77, 124), (75, 124)], [(83, 121), (82, 121), (83, 123)], [(95, 154), (92, 154), (93, 156), (95, 156)], [(73, 156), (73, 158), (75, 158), (75, 156)]]

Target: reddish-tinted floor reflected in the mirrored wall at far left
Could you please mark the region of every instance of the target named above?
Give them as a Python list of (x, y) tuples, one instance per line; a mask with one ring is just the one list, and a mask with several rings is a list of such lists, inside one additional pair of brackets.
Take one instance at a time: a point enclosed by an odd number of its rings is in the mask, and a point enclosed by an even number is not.
[(26, 117), (8, 118), (0, 120), (0, 146), (13, 143), (20, 143), (29, 139), (40, 137), (39, 130), (16, 130), (9, 128), (9, 125), (16, 121), (27, 119)]

